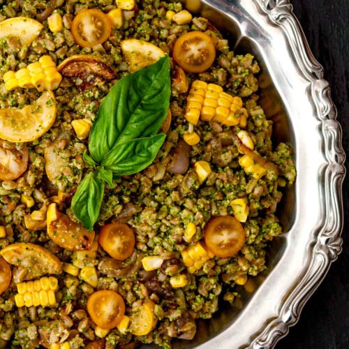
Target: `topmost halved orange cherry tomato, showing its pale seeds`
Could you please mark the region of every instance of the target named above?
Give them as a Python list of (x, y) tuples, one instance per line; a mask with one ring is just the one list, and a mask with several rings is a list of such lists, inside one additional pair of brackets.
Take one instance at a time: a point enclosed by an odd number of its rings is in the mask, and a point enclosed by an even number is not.
[(104, 43), (111, 30), (110, 19), (96, 8), (80, 11), (71, 24), (71, 34), (75, 43), (82, 47), (94, 47)]

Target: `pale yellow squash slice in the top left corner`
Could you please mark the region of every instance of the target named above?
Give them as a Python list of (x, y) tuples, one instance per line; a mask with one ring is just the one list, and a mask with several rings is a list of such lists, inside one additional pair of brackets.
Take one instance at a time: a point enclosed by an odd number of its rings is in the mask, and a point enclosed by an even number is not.
[(0, 39), (9, 36), (18, 38), (20, 43), (30, 46), (43, 30), (43, 24), (28, 17), (14, 17), (0, 23)]

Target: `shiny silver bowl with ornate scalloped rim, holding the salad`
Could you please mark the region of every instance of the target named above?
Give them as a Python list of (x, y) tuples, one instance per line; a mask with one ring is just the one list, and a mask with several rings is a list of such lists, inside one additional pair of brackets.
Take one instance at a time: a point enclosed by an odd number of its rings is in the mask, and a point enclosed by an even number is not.
[(329, 84), (315, 61), (289, 0), (188, 0), (236, 52), (260, 62), (261, 105), (275, 121), (276, 142), (295, 149), (297, 181), (283, 198), (284, 233), (269, 251), (258, 289), (198, 323), (194, 341), (175, 348), (272, 348), (295, 325), (302, 308), (341, 253), (346, 169), (341, 126)]

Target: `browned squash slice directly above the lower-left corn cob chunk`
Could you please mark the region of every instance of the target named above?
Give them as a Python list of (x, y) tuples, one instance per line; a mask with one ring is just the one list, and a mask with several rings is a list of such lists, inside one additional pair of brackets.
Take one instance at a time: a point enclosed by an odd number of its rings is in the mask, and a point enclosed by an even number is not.
[(6, 262), (17, 266), (23, 272), (23, 280), (61, 272), (61, 261), (52, 252), (36, 244), (10, 244), (3, 248), (0, 254)]

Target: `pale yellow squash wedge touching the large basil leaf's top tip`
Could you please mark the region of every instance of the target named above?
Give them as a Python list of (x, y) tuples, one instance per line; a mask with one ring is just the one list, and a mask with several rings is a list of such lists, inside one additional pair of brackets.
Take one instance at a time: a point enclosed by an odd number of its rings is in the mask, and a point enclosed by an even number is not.
[(121, 50), (131, 72), (150, 66), (165, 56), (165, 52), (156, 45), (137, 39), (121, 41)]

